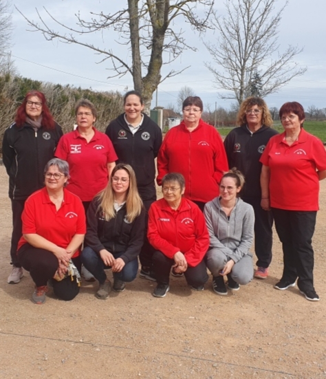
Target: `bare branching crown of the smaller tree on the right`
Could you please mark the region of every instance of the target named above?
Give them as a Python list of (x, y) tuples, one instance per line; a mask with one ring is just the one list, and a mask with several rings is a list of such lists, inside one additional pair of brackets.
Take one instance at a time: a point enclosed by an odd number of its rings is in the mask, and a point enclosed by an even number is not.
[(254, 74), (259, 75), (261, 96), (267, 96), (307, 70), (293, 61), (302, 49), (289, 46), (279, 52), (277, 34), (287, 1), (275, 10), (276, 1), (227, 0), (226, 16), (214, 14), (219, 39), (216, 45), (205, 43), (214, 61), (206, 67), (215, 76), (217, 87), (231, 92), (221, 98), (236, 99), (240, 104), (250, 91)]

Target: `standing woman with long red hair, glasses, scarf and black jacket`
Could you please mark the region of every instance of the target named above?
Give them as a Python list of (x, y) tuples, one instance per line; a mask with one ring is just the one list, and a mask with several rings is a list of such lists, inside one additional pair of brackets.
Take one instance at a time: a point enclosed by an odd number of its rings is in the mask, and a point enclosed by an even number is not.
[(14, 123), (3, 136), (3, 164), (9, 175), (9, 197), (12, 203), (12, 239), (10, 255), (12, 272), (8, 283), (19, 283), (23, 268), (17, 258), (17, 244), (21, 238), (21, 213), (25, 200), (44, 186), (44, 167), (54, 157), (58, 140), (63, 135), (54, 122), (45, 96), (30, 91), (17, 109)]

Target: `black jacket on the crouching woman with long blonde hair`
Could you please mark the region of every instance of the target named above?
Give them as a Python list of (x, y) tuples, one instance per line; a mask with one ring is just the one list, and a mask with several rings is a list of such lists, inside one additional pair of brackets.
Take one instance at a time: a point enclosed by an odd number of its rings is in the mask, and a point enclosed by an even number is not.
[(98, 197), (94, 197), (87, 210), (87, 232), (85, 243), (96, 254), (106, 249), (114, 256), (124, 252), (120, 258), (128, 263), (137, 258), (145, 235), (145, 210), (133, 222), (127, 221), (126, 204), (116, 213), (114, 219), (105, 221), (101, 210), (98, 210)]

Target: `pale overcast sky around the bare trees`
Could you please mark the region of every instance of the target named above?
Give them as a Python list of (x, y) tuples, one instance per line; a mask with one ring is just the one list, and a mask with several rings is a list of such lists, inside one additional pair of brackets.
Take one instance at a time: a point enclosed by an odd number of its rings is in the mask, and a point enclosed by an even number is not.
[[(121, 0), (12, 0), (26, 17), (36, 21), (38, 19), (36, 9), (41, 11), (45, 19), (43, 6), (58, 21), (67, 25), (75, 25), (74, 14), (80, 14), (89, 19), (89, 12), (113, 12), (119, 4), (127, 3)], [(217, 7), (223, 12), (223, 1), (216, 0)], [(276, 2), (276, 6), (282, 6), (283, 0)], [(326, 1), (325, 0), (289, 0), (289, 5), (283, 12), (281, 27), (279, 28), (280, 52), (288, 45), (303, 47), (303, 52), (296, 56), (296, 62), (307, 67), (303, 76), (294, 78), (288, 85), (276, 94), (268, 96), (265, 100), (269, 107), (281, 107), (286, 101), (298, 101), (305, 109), (309, 105), (318, 108), (326, 107)], [(12, 12), (14, 32), (12, 36), (12, 56), (17, 71), (21, 76), (34, 80), (60, 83), (61, 85), (75, 85), (76, 87), (96, 89), (99, 91), (120, 91), (133, 89), (130, 76), (123, 78), (107, 78), (109, 62), (99, 63), (100, 56), (94, 54), (86, 47), (78, 45), (65, 45), (58, 41), (46, 41), (40, 32), (28, 32), (28, 24), (17, 10)], [(184, 28), (184, 25), (177, 25)], [(175, 103), (180, 87), (187, 85), (194, 89), (198, 96), (204, 100), (204, 105), (213, 109), (217, 106), (230, 107), (230, 100), (221, 100), (219, 90), (213, 85), (213, 76), (204, 66), (204, 62), (211, 61), (199, 36), (193, 32), (185, 34), (187, 42), (197, 47), (198, 51), (188, 50), (171, 65), (164, 67), (175, 70), (188, 65), (179, 76), (169, 78), (159, 86), (158, 105), (166, 107), (169, 103)], [(96, 34), (89, 36), (94, 45), (106, 45), (117, 48), (114, 40), (116, 34)], [(213, 32), (206, 34), (205, 39), (214, 41)], [(127, 57), (127, 52), (120, 49), (122, 58)], [(155, 96), (154, 96), (155, 98)]]

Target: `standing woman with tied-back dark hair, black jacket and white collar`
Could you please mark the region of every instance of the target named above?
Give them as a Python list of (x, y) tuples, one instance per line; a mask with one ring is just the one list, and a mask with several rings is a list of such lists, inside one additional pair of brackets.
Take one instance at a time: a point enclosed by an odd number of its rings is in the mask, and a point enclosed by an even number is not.
[[(135, 171), (138, 192), (146, 210), (156, 200), (155, 158), (162, 144), (162, 131), (145, 113), (138, 91), (124, 95), (124, 113), (110, 122), (105, 133), (118, 155), (117, 163), (127, 163)], [(146, 222), (147, 224), (147, 222)], [(140, 277), (155, 281), (152, 270), (153, 248), (145, 237), (140, 252)]]

